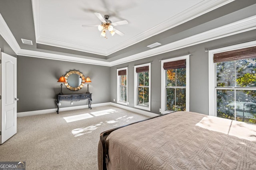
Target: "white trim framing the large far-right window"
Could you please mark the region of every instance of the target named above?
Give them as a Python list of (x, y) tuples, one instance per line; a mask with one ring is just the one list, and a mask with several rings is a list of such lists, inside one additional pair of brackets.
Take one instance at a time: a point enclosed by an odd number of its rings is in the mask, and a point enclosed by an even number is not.
[(250, 41), (247, 43), (241, 43), (237, 45), (231, 45), (228, 47), (222, 47), (219, 49), (213, 49), (208, 51), (208, 76), (209, 76), (209, 115), (217, 116), (216, 115), (216, 92), (215, 92), (215, 84), (216, 84), (216, 63), (213, 63), (213, 55), (215, 53), (222, 53), (226, 51), (232, 51), (237, 49), (243, 49), (247, 47), (256, 46), (256, 41)]

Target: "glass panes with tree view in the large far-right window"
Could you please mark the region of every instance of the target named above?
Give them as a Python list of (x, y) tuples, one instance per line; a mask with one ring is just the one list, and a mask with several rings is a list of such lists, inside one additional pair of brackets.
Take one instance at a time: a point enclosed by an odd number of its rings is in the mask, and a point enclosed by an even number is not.
[(256, 58), (216, 64), (217, 117), (256, 123)]

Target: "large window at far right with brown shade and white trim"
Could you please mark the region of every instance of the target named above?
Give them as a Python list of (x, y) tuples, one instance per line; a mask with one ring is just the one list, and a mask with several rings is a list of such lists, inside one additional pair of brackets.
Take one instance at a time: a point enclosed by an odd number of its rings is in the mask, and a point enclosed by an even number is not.
[(211, 114), (256, 123), (256, 47), (209, 53), (209, 56), (209, 69), (214, 69), (215, 80), (214, 87), (209, 86), (209, 93), (211, 90), (214, 95)]

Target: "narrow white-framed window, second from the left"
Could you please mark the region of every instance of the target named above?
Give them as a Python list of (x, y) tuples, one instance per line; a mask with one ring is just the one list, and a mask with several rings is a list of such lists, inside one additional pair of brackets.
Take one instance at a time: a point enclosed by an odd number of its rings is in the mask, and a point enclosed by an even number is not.
[(134, 107), (150, 111), (151, 64), (134, 66)]

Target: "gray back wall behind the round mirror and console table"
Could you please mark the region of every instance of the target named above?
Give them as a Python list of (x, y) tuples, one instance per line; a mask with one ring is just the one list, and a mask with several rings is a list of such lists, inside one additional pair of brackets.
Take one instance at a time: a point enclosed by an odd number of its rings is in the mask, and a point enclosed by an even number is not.
[[(17, 112), (56, 108), (56, 94), (60, 92), (60, 83), (57, 81), (71, 70), (90, 77), (92, 104), (110, 102), (110, 67), (24, 56), (18, 56), (17, 61)], [(64, 94), (86, 91), (87, 84), (77, 91), (69, 90), (65, 85), (62, 88)], [(87, 100), (73, 102), (72, 106), (85, 104), (88, 104)], [(69, 106), (70, 102), (61, 102), (60, 107)]]

